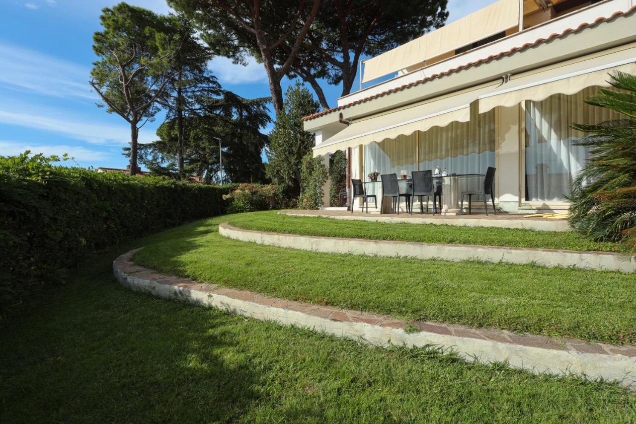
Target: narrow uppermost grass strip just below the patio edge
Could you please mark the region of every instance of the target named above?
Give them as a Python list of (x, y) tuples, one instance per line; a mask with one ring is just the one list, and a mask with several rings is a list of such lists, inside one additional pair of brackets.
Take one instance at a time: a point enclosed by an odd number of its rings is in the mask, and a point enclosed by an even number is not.
[(579, 251), (619, 251), (616, 243), (584, 239), (574, 232), (535, 231), (495, 227), (459, 227), (457, 225), (344, 221), (311, 216), (278, 215), (265, 211), (250, 215), (228, 216), (235, 227), (249, 230), (304, 234), (307, 236), (345, 237), (373, 240), (418, 241), (422, 243), (480, 244), (539, 249)]

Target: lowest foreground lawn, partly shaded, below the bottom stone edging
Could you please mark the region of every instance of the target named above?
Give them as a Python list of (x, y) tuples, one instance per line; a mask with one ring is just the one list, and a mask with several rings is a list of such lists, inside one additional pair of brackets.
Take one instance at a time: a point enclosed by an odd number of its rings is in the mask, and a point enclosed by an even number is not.
[(229, 246), (213, 230), (198, 222), (94, 258), (30, 315), (5, 322), (0, 422), (636, 421), (636, 395), (616, 384), (369, 348), (114, 281), (112, 260), (136, 246)]

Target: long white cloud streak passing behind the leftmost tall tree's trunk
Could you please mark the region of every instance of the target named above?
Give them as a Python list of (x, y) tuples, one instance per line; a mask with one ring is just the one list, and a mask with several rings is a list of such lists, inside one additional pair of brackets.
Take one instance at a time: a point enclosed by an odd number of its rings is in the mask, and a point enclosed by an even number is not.
[[(26, 112), (0, 110), (0, 124), (17, 125), (43, 131), (64, 134), (67, 137), (87, 141), (95, 145), (125, 146), (130, 143), (130, 126), (124, 120), (121, 125), (88, 122), (79, 117), (59, 117), (54, 114), (36, 115)], [(149, 143), (156, 139), (154, 131), (139, 132), (139, 143)]]

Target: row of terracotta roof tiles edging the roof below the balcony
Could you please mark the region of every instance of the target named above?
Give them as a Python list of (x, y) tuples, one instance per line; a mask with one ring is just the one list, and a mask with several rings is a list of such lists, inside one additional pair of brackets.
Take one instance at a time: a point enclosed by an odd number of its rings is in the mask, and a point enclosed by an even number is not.
[(452, 74), (452, 73), (455, 73), (455, 72), (462, 71), (462, 70), (467, 69), (469, 67), (473, 67), (473, 66), (485, 63), (485, 62), (490, 62), (490, 60), (499, 59), (500, 57), (504, 57), (504, 56), (508, 56), (508, 55), (511, 55), (513, 53), (516, 53), (516, 52), (520, 52), (521, 50), (525, 50), (527, 48), (534, 47), (534, 46), (542, 44), (542, 43), (547, 43), (548, 41), (551, 41), (552, 39), (555, 39), (555, 38), (561, 38), (561, 37), (567, 36), (567, 34), (570, 34), (570, 32), (578, 32), (578, 31), (581, 31), (581, 30), (586, 29), (588, 27), (593, 27), (594, 25), (600, 24), (601, 22), (612, 20), (612, 19), (614, 19), (616, 17), (619, 17), (621, 15), (630, 15), (631, 13), (633, 13), (633, 11), (636, 11), (636, 6), (633, 6), (630, 10), (625, 11), (625, 12), (618, 11), (618, 12), (614, 13), (613, 15), (611, 15), (611, 17), (608, 17), (608, 18), (600, 17), (600, 18), (597, 18), (597, 20), (595, 20), (594, 22), (591, 22), (591, 23), (584, 22), (583, 24), (579, 25), (576, 29), (568, 28), (568, 29), (565, 29), (565, 31), (561, 32), (560, 34), (557, 34), (557, 33), (550, 34), (550, 36), (548, 36), (546, 38), (537, 39), (536, 41), (534, 41), (534, 43), (525, 43), (522, 46), (513, 47), (513, 48), (511, 48), (510, 50), (508, 50), (506, 52), (497, 53), (496, 55), (490, 55), (490, 56), (485, 57), (483, 59), (476, 60), (474, 62), (469, 62), (469, 63), (467, 63), (465, 65), (458, 66), (458, 67), (455, 67), (455, 68), (452, 68), (452, 69), (448, 69), (448, 71), (444, 71), (444, 72), (441, 72), (439, 74), (434, 74), (434, 75), (431, 75), (431, 76), (427, 76), (426, 78), (423, 78), (422, 80), (413, 81), (412, 83), (404, 84), (404, 85), (401, 85), (400, 87), (391, 88), (391, 90), (386, 90), (386, 91), (383, 91), (383, 92), (378, 93), (378, 94), (370, 95), (369, 97), (364, 97), (364, 99), (359, 99), (359, 100), (356, 100), (354, 102), (343, 104), (342, 106), (338, 106), (337, 108), (331, 108), (331, 109), (328, 109), (328, 110), (320, 111), (318, 113), (314, 113), (312, 115), (307, 115), (306, 117), (303, 117), (303, 120), (304, 121), (308, 121), (308, 120), (312, 120), (312, 119), (315, 119), (315, 118), (319, 118), (319, 117), (322, 117), (323, 115), (327, 115), (327, 114), (329, 114), (331, 112), (335, 112), (335, 111), (338, 111), (338, 110), (343, 110), (343, 109), (346, 109), (346, 108), (350, 108), (351, 106), (355, 106), (356, 104), (361, 104), (361, 103), (368, 102), (368, 101), (373, 100), (373, 99), (377, 99), (378, 97), (382, 97), (382, 96), (387, 95), (387, 94), (393, 94), (395, 92), (399, 92), (401, 90), (404, 90), (405, 88), (415, 87), (416, 85), (424, 84), (424, 83), (426, 83), (428, 81), (434, 80), (436, 78), (440, 78), (441, 76), (446, 76), (448, 74)]

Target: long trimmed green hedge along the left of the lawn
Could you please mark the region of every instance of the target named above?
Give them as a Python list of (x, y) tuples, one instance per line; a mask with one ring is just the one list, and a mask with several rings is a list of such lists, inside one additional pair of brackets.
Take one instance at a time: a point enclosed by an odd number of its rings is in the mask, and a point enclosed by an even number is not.
[(0, 314), (95, 252), (225, 213), (235, 188), (54, 166), (57, 157), (0, 157)]

